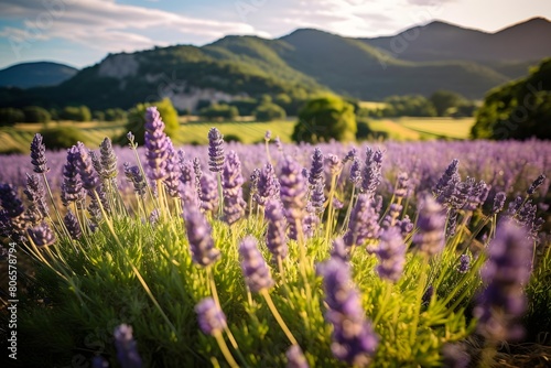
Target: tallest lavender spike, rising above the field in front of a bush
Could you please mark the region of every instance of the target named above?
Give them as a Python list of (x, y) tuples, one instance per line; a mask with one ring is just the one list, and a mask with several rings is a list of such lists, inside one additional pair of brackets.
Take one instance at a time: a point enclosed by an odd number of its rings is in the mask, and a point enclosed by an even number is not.
[(145, 159), (148, 161), (148, 177), (152, 181), (164, 180), (168, 175), (166, 164), (171, 140), (164, 133), (164, 122), (156, 107), (145, 110)]

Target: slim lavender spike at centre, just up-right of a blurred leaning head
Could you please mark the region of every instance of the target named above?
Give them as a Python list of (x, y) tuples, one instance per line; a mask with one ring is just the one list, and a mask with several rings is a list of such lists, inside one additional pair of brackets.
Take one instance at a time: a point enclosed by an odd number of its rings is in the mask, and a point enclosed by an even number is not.
[(287, 220), (283, 216), (281, 202), (276, 198), (268, 199), (266, 203), (266, 218), (268, 219), (268, 229), (266, 231), (266, 246), (274, 258), (284, 259), (289, 253), (287, 246)]

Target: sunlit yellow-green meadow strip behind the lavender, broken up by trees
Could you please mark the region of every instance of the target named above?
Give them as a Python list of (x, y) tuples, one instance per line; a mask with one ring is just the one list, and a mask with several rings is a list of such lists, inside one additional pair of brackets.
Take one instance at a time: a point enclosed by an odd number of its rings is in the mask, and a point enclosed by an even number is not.
[[(415, 141), (430, 139), (468, 139), (474, 118), (397, 118), (372, 119), (368, 121), (374, 131), (371, 139), (389, 139), (395, 141)], [(173, 141), (179, 144), (205, 144), (212, 127), (217, 127), (229, 140), (242, 143), (263, 142), (267, 130), (272, 138), (279, 137), (282, 142), (291, 142), (294, 120), (271, 122), (256, 121), (190, 121), (182, 122), (180, 131)], [(86, 133), (88, 147), (97, 147), (105, 137), (115, 138), (125, 133), (123, 122), (52, 122), (48, 127), (77, 127)], [(0, 128), (0, 153), (29, 152), (29, 142), (34, 133), (43, 128), (41, 123), (19, 123), (14, 127)]]

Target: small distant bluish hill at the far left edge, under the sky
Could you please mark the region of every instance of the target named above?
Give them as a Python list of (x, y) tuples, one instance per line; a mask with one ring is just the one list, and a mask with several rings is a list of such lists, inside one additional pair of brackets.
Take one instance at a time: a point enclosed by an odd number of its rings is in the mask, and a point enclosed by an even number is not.
[(50, 62), (22, 63), (0, 71), (0, 87), (31, 88), (56, 86), (77, 74), (78, 69)]

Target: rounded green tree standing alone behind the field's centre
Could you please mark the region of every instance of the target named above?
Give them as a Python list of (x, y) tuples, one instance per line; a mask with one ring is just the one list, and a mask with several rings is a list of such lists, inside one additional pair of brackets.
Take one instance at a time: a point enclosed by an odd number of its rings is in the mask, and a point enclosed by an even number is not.
[(354, 107), (336, 96), (311, 99), (299, 112), (292, 139), (295, 142), (353, 141), (356, 137)]

